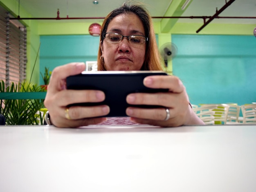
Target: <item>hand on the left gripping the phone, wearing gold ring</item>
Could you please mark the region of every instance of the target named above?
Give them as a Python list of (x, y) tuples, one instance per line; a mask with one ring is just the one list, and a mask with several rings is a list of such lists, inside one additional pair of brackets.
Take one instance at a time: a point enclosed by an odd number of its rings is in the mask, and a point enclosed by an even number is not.
[[(84, 63), (69, 63), (56, 67), (52, 71), (44, 104), (51, 116), (51, 123), (56, 127), (80, 127), (106, 121), (106, 118), (99, 118), (99, 116), (107, 115), (110, 112), (107, 105), (67, 107), (73, 103), (101, 102), (105, 99), (105, 94), (99, 90), (70, 90), (66, 88), (66, 78), (80, 74), (84, 70)], [(70, 119), (67, 119), (66, 109), (68, 109)]]

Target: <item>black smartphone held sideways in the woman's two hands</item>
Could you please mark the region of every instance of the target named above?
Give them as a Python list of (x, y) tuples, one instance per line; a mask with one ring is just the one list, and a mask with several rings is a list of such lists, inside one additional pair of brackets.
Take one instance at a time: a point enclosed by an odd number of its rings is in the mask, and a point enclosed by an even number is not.
[(146, 76), (168, 75), (164, 71), (83, 71), (79, 75), (67, 77), (67, 89), (101, 90), (106, 98), (99, 103), (74, 103), (73, 105), (95, 106), (108, 105), (110, 113), (107, 117), (127, 116), (129, 106), (156, 108), (157, 105), (129, 105), (126, 96), (130, 93), (168, 92), (168, 89), (152, 89), (143, 85)]

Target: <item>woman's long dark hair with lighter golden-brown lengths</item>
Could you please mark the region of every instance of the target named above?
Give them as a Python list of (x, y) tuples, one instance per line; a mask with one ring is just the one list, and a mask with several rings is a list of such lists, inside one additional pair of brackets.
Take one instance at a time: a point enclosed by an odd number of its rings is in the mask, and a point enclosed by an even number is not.
[[(147, 9), (144, 8), (142, 4), (129, 4), (128, 2), (124, 2), (124, 4), (122, 4), (121, 7), (111, 11), (106, 16), (101, 26), (100, 45), (101, 43), (103, 43), (104, 34), (106, 33), (108, 25), (111, 22), (111, 20), (116, 16), (124, 13), (134, 13), (135, 15), (137, 15), (143, 23), (143, 27), (145, 29), (145, 36), (148, 37), (148, 41), (146, 42), (145, 60), (141, 67), (141, 70), (163, 70), (161, 64), (161, 55), (159, 54), (155, 38), (153, 21)], [(98, 71), (106, 71), (104, 60), (101, 58), (101, 56), (102, 52), (101, 47), (99, 46), (97, 60)]]

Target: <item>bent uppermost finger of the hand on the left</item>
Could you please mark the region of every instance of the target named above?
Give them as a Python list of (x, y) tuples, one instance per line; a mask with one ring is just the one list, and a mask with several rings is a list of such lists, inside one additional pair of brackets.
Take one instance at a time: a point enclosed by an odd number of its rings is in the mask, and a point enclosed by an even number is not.
[(80, 74), (85, 70), (85, 63), (69, 63), (58, 66), (52, 71), (47, 91), (58, 92), (65, 89), (65, 80), (68, 76)]

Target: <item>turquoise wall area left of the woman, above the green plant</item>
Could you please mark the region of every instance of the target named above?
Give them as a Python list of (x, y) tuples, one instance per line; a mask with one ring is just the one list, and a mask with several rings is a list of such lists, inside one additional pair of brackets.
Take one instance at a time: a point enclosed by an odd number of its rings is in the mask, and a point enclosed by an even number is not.
[[(99, 37), (90, 35), (40, 36), (40, 71), (71, 62), (97, 60)], [(40, 77), (40, 85), (43, 79)]]

